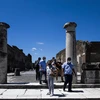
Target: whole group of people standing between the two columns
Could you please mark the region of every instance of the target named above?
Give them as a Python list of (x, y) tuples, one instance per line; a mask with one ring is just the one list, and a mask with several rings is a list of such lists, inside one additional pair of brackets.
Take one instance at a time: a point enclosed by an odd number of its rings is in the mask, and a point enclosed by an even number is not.
[[(71, 57), (67, 58), (67, 62), (63, 64), (61, 62), (57, 62), (53, 57), (46, 63), (46, 57), (43, 57), (42, 60), (39, 57), (35, 62), (36, 67), (36, 80), (39, 80), (39, 83), (42, 84), (42, 75), (45, 76), (45, 82), (47, 82), (49, 92), (47, 95), (54, 95), (54, 77), (58, 79), (58, 74), (60, 73), (61, 80), (64, 82), (63, 91), (65, 91), (66, 85), (69, 83), (68, 92), (71, 92), (72, 88), (72, 75), (73, 73), (76, 76), (76, 72), (74, 70), (74, 66), (71, 63)], [(63, 80), (63, 76), (65, 80)]]

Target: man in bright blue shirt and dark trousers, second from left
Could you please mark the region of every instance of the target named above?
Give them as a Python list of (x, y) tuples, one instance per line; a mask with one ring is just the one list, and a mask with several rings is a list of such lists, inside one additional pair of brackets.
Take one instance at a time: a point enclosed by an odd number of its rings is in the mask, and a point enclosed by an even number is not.
[(42, 84), (42, 75), (45, 75), (45, 82), (46, 82), (46, 57), (42, 58), (43, 60), (39, 63), (39, 71), (40, 71), (40, 84)]

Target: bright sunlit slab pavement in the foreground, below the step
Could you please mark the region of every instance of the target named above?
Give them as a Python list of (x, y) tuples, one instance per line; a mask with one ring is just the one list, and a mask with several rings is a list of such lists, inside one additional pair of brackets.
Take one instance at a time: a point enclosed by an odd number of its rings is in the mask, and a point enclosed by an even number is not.
[(61, 88), (54, 90), (54, 96), (47, 95), (48, 89), (0, 89), (0, 99), (72, 99), (100, 100), (100, 88), (74, 88), (73, 92), (64, 92)]

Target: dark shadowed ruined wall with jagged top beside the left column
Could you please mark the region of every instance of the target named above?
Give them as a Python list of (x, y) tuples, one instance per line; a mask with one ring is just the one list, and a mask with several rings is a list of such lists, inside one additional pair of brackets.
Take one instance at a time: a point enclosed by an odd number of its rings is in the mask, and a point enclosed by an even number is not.
[(28, 70), (32, 68), (32, 57), (30, 54), (25, 55), (22, 49), (16, 46), (7, 45), (8, 49), (8, 64), (7, 71), (14, 72), (15, 68), (20, 70)]

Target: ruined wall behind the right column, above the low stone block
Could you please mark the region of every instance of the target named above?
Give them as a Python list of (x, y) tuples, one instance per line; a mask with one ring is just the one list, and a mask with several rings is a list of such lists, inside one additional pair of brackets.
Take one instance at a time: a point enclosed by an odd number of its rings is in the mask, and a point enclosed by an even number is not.
[[(77, 71), (81, 72), (83, 63), (100, 63), (100, 42), (99, 41), (76, 41)], [(56, 54), (56, 59), (65, 62), (65, 49)]]

